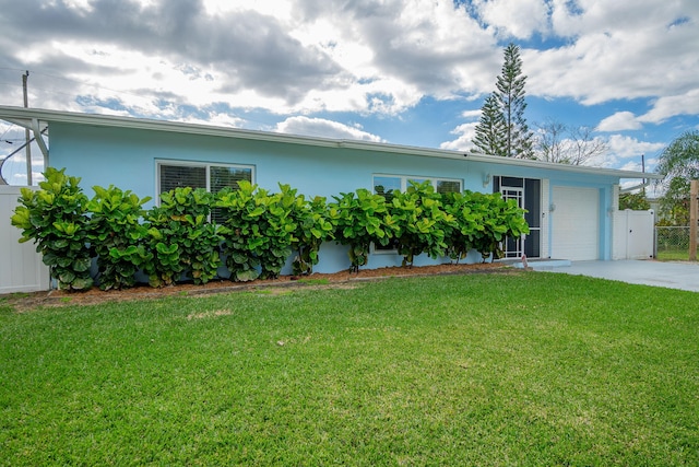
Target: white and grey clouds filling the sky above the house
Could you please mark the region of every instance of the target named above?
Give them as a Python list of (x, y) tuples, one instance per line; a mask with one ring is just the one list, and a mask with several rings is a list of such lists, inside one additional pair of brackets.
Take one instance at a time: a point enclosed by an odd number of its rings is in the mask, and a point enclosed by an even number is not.
[[(522, 49), (529, 95), (588, 105), (657, 98), (648, 121), (697, 112), (699, 2), (691, 0), (27, 1), (4, 5), (12, 21), (0, 38), (3, 61), (74, 80), (61, 95), (35, 96), (58, 108), (74, 105), (68, 95), (105, 100), (112, 89), (127, 112), (154, 115), (163, 98), (396, 115), (425, 95), (490, 92), (498, 39), (540, 35), (550, 40), (545, 48)], [(14, 94), (4, 95), (14, 102)]]

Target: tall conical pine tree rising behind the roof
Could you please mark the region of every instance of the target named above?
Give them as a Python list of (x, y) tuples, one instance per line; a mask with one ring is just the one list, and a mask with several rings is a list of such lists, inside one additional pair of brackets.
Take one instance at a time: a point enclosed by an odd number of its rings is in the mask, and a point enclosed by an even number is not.
[(486, 98), (481, 109), (481, 120), (474, 138), (478, 150), (493, 155), (534, 159), (534, 133), (530, 131), (524, 118), (525, 83), (520, 48), (510, 44), (505, 49), (505, 63), (497, 78), (496, 91)]

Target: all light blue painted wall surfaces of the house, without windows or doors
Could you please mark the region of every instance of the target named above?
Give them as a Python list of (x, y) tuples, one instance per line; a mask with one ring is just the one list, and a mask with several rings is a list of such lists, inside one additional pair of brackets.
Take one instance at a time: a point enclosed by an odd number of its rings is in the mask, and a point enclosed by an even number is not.
[[(254, 183), (276, 190), (277, 184), (288, 184), (307, 196), (324, 196), (372, 188), (374, 174), (461, 179), (464, 189), (491, 191), (491, 182), (484, 186), (484, 176), (513, 176), (549, 180), (549, 199), (555, 186), (592, 187), (600, 189), (600, 259), (611, 258), (612, 185), (618, 178), (566, 173), (548, 168), (482, 163), (463, 159), (440, 159), (353, 149), (321, 148), (258, 140), (146, 131), (127, 128), (105, 128), (71, 124), (51, 124), (49, 164), (67, 168), (69, 175), (82, 178), (88, 197), (94, 185), (118, 186), (140, 197), (156, 197), (156, 161), (197, 161), (240, 164), (254, 167)], [(151, 203), (152, 205), (152, 203)], [(547, 212), (547, 207), (543, 207)], [(547, 220), (550, 222), (550, 218)], [(550, 237), (555, 233), (550, 232)], [(548, 248), (550, 250), (550, 247)], [(346, 248), (328, 244), (315, 268), (333, 272), (348, 267)], [(472, 255), (470, 261), (479, 260)], [(416, 265), (434, 264), (419, 257)], [(442, 262), (438, 260), (438, 262)], [(367, 267), (398, 266), (398, 255), (372, 254)], [(288, 271), (288, 268), (285, 272)]]

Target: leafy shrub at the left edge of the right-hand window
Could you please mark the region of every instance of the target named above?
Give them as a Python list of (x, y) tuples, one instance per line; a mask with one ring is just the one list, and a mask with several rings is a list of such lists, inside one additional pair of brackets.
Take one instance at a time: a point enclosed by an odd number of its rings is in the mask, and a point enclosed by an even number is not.
[(371, 243), (388, 245), (393, 224), (381, 195), (366, 188), (333, 196), (328, 205), (329, 215), (335, 225), (335, 240), (350, 246), (350, 270), (357, 272), (367, 264)]

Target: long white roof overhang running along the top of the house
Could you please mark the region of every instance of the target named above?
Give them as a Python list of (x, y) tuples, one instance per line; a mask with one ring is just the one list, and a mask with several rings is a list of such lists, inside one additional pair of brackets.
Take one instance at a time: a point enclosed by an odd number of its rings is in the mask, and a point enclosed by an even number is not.
[(460, 152), (441, 149), (418, 148), (401, 144), (379, 143), (363, 140), (331, 139), (305, 137), (271, 131), (245, 130), (239, 128), (216, 127), (209, 125), (188, 124), (181, 121), (153, 120), (102, 114), (80, 114), (62, 110), (46, 110), (37, 108), (0, 106), (0, 119), (16, 124), (33, 131), (40, 130), (50, 122), (87, 125), (95, 127), (129, 128), (151, 131), (169, 131), (185, 135), (213, 136), (259, 140), (287, 144), (304, 144), (323, 148), (347, 148), (358, 151), (374, 151), (394, 154), (408, 154), (428, 157), (469, 160), (473, 162), (512, 165), (538, 170), (550, 170), (576, 174), (603, 175), (618, 178), (661, 179), (660, 174), (620, 171), (616, 168), (589, 167), (584, 165), (556, 164), (550, 162), (524, 159), (501, 157), (472, 152)]

